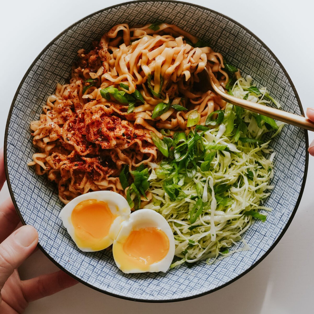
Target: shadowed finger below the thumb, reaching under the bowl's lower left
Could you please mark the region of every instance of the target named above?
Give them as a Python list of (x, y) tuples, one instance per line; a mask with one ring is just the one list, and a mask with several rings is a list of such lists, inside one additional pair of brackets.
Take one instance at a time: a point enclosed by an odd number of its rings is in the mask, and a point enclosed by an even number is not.
[(69, 288), (78, 282), (62, 270), (22, 281), (23, 295), (27, 302), (35, 301)]

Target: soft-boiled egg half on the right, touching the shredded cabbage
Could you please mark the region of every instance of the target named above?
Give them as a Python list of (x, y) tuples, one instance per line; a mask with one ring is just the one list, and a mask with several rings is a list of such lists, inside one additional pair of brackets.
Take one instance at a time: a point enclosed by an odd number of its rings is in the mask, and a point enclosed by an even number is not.
[(139, 209), (122, 222), (113, 257), (124, 273), (166, 272), (175, 253), (167, 220), (152, 209)]

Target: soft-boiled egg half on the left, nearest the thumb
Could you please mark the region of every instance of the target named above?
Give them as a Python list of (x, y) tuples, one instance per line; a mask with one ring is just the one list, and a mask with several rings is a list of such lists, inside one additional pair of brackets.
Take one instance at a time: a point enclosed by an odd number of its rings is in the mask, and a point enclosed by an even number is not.
[(130, 213), (122, 195), (95, 191), (74, 198), (62, 208), (59, 217), (78, 248), (94, 252), (113, 243)]

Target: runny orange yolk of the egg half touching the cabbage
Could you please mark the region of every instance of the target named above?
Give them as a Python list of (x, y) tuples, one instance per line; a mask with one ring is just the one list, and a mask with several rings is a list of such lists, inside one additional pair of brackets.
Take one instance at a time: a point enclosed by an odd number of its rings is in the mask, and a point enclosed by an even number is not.
[(165, 232), (155, 227), (133, 230), (126, 241), (113, 247), (121, 269), (149, 270), (149, 265), (160, 262), (169, 251), (169, 239)]

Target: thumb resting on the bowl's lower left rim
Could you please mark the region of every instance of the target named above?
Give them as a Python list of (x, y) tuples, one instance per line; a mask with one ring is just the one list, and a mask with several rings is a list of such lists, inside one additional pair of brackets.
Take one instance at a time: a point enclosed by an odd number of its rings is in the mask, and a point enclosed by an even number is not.
[(34, 227), (23, 226), (0, 244), (0, 290), (15, 268), (34, 251), (38, 234)]

